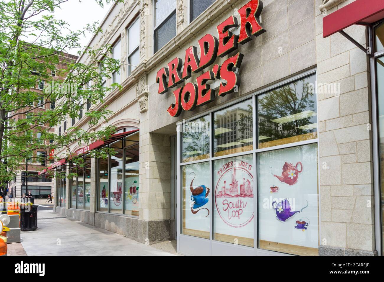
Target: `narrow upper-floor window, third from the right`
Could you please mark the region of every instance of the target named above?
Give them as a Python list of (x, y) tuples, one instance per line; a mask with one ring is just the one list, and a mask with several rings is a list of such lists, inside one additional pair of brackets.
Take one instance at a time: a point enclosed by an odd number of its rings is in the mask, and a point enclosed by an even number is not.
[(137, 18), (128, 30), (128, 75), (137, 67), (140, 61), (139, 45), (140, 45), (140, 26)]

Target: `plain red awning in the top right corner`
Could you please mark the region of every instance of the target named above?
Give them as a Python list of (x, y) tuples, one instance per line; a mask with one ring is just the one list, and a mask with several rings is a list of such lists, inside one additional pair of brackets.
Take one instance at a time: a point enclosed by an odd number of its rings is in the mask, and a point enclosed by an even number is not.
[(323, 37), (351, 25), (369, 25), (382, 18), (384, 0), (356, 0), (323, 18)]

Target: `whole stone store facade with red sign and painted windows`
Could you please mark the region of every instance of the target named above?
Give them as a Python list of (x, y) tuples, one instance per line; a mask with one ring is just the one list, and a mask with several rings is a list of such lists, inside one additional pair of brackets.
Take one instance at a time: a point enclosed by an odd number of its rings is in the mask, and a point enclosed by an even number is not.
[[(354, 1), (200, 2), (108, 12), (89, 45), (120, 50), (105, 83), (123, 89), (89, 110), (108, 105), (92, 130), (120, 135), (73, 144), (84, 164), (61, 167), (76, 176), (56, 180), (55, 211), (181, 254), (381, 254), (369, 58), (323, 37)], [(98, 146), (116, 154), (87, 157)]]

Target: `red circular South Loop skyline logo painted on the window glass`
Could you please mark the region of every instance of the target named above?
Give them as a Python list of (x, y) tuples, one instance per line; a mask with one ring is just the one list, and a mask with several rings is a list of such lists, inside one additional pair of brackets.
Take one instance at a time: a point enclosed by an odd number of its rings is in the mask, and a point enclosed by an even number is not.
[(215, 187), (215, 206), (220, 218), (238, 228), (253, 219), (252, 165), (244, 161), (230, 161), (218, 171)]

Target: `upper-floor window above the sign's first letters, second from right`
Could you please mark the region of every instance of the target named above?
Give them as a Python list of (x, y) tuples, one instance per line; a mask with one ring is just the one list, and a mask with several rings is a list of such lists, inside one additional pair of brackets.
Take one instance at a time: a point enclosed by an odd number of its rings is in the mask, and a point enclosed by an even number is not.
[(176, 36), (176, 0), (155, 0), (154, 53)]

